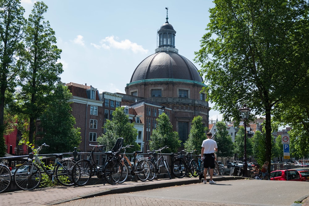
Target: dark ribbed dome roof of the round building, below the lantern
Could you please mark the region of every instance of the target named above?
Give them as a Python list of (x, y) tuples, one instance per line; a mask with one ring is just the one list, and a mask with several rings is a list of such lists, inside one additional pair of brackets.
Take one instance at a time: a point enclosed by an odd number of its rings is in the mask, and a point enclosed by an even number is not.
[(193, 63), (176, 52), (158, 52), (150, 55), (136, 67), (130, 82), (161, 78), (203, 82)]

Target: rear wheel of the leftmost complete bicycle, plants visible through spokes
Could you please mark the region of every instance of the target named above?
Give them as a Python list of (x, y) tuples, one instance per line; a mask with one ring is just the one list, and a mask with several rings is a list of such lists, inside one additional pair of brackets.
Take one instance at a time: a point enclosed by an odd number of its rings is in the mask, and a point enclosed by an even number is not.
[(61, 162), (62, 165), (57, 165), (55, 174), (57, 181), (63, 186), (72, 186), (74, 181), (72, 179), (72, 169), (75, 162), (71, 159), (66, 159)]

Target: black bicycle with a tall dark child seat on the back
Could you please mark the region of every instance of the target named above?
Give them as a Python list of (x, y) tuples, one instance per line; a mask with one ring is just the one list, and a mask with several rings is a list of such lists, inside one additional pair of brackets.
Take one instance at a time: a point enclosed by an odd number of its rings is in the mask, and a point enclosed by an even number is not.
[(118, 138), (116, 144), (111, 151), (105, 152), (106, 159), (103, 166), (96, 163), (94, 159), (95, 148), (105, 147), (104, 145), (89, 145), (92, 146), (89, 159), (82, 159), (77, 161), (73, 166), (72, 179), (78, 186), (86, 185), (92, 176), (96, 175), (98, 178), (103, 178), (109, 184), (116, 184), (119, 182), (122, 175), (122, 165), (120, 162), (120, 150), (122, 147), (123, 138)]

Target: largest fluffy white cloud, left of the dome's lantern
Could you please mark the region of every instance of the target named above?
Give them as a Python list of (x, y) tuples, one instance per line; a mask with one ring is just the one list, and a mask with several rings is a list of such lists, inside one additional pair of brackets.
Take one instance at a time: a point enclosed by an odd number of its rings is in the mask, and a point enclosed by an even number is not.
[[(116, 39), (118, 39), (116, 37)], [(134, 53), (142, 52), (142, 53), (147, 53), (148, 50), (144, 49), (141, 45), (138, 45), (136, 43), (131, 42), (130, 40), (122, 40), (122, 41), (117, 41), (114, 39), (114, 36), (107, 36), (105, 39), (102, 39), (100, 41), (101, 45), (96, 45), (91, 43), (92, 46), (95, 48), (104, 48), (104, 49), (110, 49), (110, 48), (116, 48), (116, 49), (130, 49)]]

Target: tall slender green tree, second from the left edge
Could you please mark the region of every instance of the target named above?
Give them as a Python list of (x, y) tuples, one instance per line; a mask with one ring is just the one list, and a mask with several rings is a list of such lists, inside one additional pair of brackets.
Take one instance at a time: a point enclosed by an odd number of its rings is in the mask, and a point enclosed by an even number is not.
[(55, 88), (63, 72), (60, 59), (61, 49), (55, 45), (55, 32), (48, 21), (44, 21), (43, 14), (47, 11), (43, 2), (34, 4), (25, 27), (26, 51), (23, 55), (23, 70), (20, 74), (23, 113), (29, 116), (29, 142), (33, 142), (35, 120), (45, 110), (48, 100), (45, 95)]

